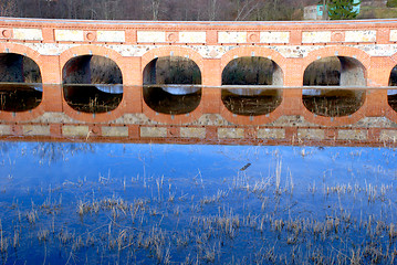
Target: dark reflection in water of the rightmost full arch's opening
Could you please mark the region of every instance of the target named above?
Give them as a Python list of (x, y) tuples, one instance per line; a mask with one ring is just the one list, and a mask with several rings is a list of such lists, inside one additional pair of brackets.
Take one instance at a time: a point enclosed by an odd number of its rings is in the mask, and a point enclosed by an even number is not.
[(343, 117), (357, 112), (365, 102), (364, 89), (303, 89), (304, 106), (324, 117)]

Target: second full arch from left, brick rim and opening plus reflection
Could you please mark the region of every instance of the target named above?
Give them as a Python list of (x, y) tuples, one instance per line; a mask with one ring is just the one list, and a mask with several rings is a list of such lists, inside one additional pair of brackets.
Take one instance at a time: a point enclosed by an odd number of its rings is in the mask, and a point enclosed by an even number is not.
[(155, 120), (188, 123), (202, 113), (202, 57), (184, 47), (159, 47), (142, 57), (143, 110)]

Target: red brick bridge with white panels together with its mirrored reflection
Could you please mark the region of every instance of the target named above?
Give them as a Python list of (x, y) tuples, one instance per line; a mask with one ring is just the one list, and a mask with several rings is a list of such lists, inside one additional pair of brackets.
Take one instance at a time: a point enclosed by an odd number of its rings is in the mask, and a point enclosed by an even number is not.
[[(43, 100), (31, 112), (0, 112), (0, 136), (121, 141), (394, 144), (397, 112), (387, 104), (390, 72), (397, 62), (397, 20), (348, 22), (123, 22), (0, 20), (0, 52), (32, 59), (40, 67)], [(126, 86), (140, 86), (153, 60), (181, 56), (201, 72), (202, 98), (188, 115), (158, 114), (142, 91), (126, 91), (115, 110), (77, 113), (51, 84), (80, 55), (113, 60)], [(221, 93), (223, 68), (234, 59), (261, 56), (280, 68), (282, 103), (272, 113), (241, 116), (229, 112)], [(364, 105), (344, 117), (322, 117), (302, 103), (303, 76), (314, 61), (344, 56), (364, 70)]]

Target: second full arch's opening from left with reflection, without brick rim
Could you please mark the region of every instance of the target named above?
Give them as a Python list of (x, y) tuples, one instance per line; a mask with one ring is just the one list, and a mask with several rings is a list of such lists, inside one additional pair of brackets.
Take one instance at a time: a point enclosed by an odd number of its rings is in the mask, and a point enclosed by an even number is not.
[(187, 57), (155, 59), (144, 68), (143, 94), (145, 103), (157, 113), (191, 113), (201, 100), (200, 68)]

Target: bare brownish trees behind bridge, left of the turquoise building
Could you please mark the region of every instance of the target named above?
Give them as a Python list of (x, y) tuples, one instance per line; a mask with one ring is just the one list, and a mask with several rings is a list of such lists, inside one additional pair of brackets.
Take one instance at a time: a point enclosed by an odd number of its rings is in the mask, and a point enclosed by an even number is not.
[(301, 20), (303, 7), (310, 3), (311, 0), (0, 0), (0, 15), (84, 20)]

